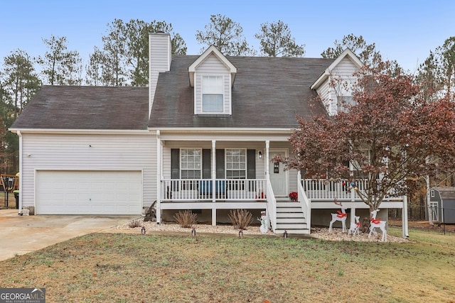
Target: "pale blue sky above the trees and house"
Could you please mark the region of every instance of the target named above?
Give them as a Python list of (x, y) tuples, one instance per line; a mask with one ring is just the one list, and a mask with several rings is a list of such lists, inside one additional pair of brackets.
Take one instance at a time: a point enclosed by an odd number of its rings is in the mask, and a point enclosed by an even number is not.
[(77, 50), (87, 63), (115, 18), (171, 23), (188, 55), (200, 53), (196, 31), (204, 31), (210, 15), (218, 13), (240, 23), (256, 50), (261, 23), (287, 23), (296, 43), (305, 45), (305, 57), (321, 57), (335, 40), (353, 33), (410, 72), (455, 35), (452, 0), (0, 0), (0, 11), (0, 65), (16, 49), (31, 57), (44, 55), (42, 39), (50, 35), (65, 36), (68, 50)]

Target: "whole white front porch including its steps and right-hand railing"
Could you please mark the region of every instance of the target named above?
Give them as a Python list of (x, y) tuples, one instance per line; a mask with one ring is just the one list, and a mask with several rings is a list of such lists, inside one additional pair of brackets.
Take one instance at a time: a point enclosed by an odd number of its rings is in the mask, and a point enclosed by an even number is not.
[[(176, 134), (158, 133), (159, 170), (156, 220), (161, 211), (210, 210), (211, 222), (217, 224), (217, 211), (257, 209), (267, 212), (274, 233), (310, 233), (312, 210), (340, 209), (333, 199), (349, 209), (353, 224), (355, 210), (368, 209), (348, 180), (302, 179), (300, 172), (287, 170), (273, 162), (274, 155), (289, 155), (287, 139), (232, 141), (217, 135), (216, 140), (203, 141), (195, 136), (183, 140)], [(365, 180), (354, 180), (360, 192), (368, 189)], [(291, 202), (289, 193), (298, 199)], [(382, 202), (381, 209), (403, 209), (403, 237), (407, 236), (407, 201), (393, 192)], [(317, 213), (318, 211), (316, 211)], [(368, 213), (367, 213), (368, 214)], [(330, 216), (330, 215), (329, 215)], [(325, 218), (325, 215), (324, 215)], [(328, 220), (329, 221), (329, 220)]]

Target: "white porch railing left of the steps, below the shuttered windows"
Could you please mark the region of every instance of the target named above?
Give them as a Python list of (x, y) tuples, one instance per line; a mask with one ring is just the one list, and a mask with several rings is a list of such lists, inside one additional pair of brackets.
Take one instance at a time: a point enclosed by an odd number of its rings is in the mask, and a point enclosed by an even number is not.
[(162, 201), (267, 201), (265, 179), (161, 180)]

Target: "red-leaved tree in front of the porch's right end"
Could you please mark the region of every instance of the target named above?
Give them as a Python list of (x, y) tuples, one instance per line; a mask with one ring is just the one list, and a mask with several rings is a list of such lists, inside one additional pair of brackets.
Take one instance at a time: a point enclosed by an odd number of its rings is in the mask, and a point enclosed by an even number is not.
[(295, 156), (276, 160), (305, 177), (365, 180), (365, 191), (355, 189), (370, 211), (387, 195), (407, 194), (412, 180), (454, 170), (453, 101), (426, 101), (412, 75), (386, 62), (357, 79), (354, 104), (334, 116), (299, 118), (289, 138)]

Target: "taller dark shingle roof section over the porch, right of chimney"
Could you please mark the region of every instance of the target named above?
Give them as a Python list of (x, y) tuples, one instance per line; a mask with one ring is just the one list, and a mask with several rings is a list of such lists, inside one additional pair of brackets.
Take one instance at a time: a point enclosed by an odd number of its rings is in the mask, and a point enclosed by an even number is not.
[[(228, 57), (237, 67), (232, 87), (232, 116), (195, 115), (188, 66), (198, 56), (173, 56), (171, 71), (161, 73), (151, 111), (151, 128), (294, 128), (296, 114), (324, 112), (311, 108), (309, 87), (332, 59)], [(319, 104), (320, 105), (320, 104)]]

